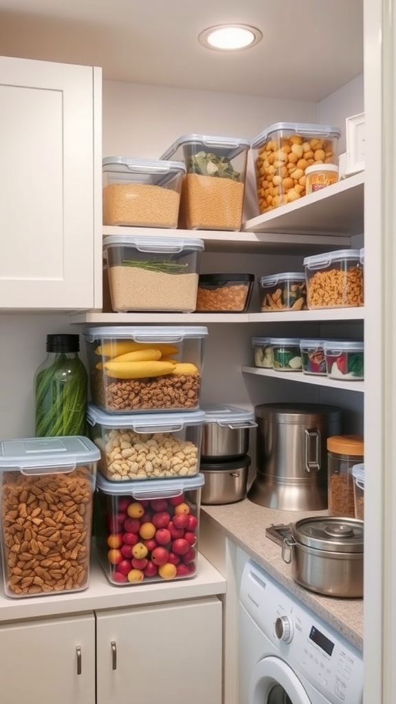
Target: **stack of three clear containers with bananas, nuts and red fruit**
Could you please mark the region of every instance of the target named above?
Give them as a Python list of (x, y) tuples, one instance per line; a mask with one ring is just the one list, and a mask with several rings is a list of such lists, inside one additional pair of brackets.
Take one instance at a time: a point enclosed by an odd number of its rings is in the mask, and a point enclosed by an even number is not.
[(95, 534), (111, 584), (197, 572), (205, 327), (85, 329), (101, 453)]

